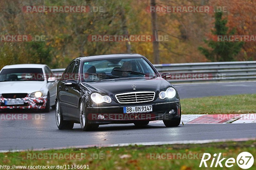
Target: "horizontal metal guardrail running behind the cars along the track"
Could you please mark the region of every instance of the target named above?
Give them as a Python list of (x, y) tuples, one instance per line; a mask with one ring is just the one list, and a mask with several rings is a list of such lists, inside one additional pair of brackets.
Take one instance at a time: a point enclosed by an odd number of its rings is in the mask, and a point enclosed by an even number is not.
[[(159, 73), (169, 72), (172, 83), (256, 80), (256, 61), (154, 64)], [(62, 74), (65, 69), (52, 69)]]

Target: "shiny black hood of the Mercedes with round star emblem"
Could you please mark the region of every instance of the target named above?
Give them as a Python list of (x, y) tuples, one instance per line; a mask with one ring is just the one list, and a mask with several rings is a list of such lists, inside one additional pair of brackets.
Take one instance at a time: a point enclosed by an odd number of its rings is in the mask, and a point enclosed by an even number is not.
[[(135, 90), (132, 85), (135, 84)], [(154, 79), (131, 79), (131, 80), (116, 80), (116, 81), (102, 81), (102, 82), (85, 82), (92, 92), (99, 92), (101, 94), (118, 94), (125, 92), (140, 92), (140, 91), (162, 91), (167, 87), (173, 87), (165, 79), (157, 77)]]

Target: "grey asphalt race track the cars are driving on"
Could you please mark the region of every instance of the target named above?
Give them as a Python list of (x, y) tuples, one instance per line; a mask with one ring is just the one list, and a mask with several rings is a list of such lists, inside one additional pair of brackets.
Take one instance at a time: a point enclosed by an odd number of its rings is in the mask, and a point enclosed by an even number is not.
[[(181, 98), (256, 93), (256, 82), (175, 87), (179, 90)], [(145, 128), (136, 128), (133, 124), (114, 124), (101, 125), (97, 131), (90, 132), (82, 131), (80, 125), (75, 124), (73, 130), (59, 130), (54, 110), (39, 115), (42, 119), (1, 120), (0, 150), (256, 137), (255, 124), (185, 124), (175, 128), (166, 128), (164, 124), (159, 123), (149, 123)], [(36, 115), (29, 113), (28, 117), (30, 116), (34, 118)]]

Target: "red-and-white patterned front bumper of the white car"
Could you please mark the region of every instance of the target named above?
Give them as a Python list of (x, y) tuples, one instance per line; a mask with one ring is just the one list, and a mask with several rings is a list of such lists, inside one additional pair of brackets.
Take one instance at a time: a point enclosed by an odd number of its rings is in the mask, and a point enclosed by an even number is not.
[[(23, 100), (23, 105), (5, 105), (7, 100)], [(45, 109), (47, 96), (43, 97), (24, 97), (24, 98), (4, 98), (0, 97), (0, 109)]]

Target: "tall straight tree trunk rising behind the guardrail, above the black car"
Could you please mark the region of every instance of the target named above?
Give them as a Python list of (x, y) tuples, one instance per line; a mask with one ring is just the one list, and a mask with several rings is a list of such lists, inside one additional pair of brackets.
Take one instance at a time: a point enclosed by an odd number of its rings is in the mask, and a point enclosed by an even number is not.
[[(150, 0), (151, 6), (156, 6), (156, 0)], [(156, 23), (156, 13), (151, 13), (151, 24), (152, 32), (154, 36), (153, 40), (153, 50), (154, 50), (154, 63), (159, 64), (159, 42), (158, 42), (158, 33), (157, 33), (157, 23)]]

